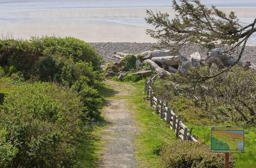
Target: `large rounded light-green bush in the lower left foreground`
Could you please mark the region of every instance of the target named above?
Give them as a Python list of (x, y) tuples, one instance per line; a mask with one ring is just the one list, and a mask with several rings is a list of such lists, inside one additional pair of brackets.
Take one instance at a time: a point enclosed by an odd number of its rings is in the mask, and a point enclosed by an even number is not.
[(0, 167), (76, 166), (82, 110), (80, 97), (67, 87), (17, 87), (0, 110)]

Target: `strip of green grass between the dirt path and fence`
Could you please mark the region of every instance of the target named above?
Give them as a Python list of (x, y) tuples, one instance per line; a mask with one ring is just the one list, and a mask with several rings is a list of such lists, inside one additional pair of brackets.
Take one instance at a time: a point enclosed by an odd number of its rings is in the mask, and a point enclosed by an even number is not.
[(134, 111), (139, 133), (135, 137), (136, 158), (139, 167), (159, 167), (160, 156), (154, 154), (158, 146), (168, 145), (175, 141), (175, 132), (160, 119), (159, 115), (153, 114), (147, 101), (144, 101), (144, 80), (130, 83), (134, 86), (133, 96), (129, 98), (130, 107)]

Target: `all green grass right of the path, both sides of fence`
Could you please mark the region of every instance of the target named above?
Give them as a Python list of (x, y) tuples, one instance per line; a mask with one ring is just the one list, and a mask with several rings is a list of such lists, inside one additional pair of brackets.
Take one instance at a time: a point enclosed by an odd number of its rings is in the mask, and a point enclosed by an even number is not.
[[(126, 82), (127, 83), (127, 82)], [(153, 114), (152, 109), (149, 107), (149, 103), (145, 102), (144, 95), (144, 81), (128, 82), (136, 89), (135, 94), (130, 98), (131, 106), (136, 105), (135, 116), (138, 121), (141, 132), (136, 136), (136, 156), (139, 160), (140, 167), (158, 167), (160, 156), (154, 155), (151, 149), (157, 144), (169, 144), (176, 141), (174, 131), (170, 131), (164, 121), (159, 119), (158, 115)], [(189, 110), (188, 110), (189, 111)], [(178, 112), (177, 112), (178, 113)], [(211, 123), (208, 121), (207, 123)], [(195, 125), (191, 124), (189, 120), (185, 122), (188, 128), (193, 127), (193, 134), (196, 135), (200, 142), (203, 142), (209, 146), (210, 150), (210, 133), (211, 126), (215, 125)], [(229, 123), (223, 123), (221, 126), (229, 125)], [(235, 158), (235, 167), (254, 167), (256, 161), (256, 128), (245, 128), (245, 151), (240, 154), (233, 154)]]

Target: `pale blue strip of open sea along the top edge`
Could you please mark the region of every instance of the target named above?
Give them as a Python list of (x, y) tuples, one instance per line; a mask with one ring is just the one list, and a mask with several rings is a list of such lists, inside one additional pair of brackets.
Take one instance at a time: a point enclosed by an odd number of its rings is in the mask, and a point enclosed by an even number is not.
[[(202, 0), (217, 7), (256, 7), (255, 0)], [(172, 0), (0, 0), (0, 10), (52, 8), (171, 7)]]

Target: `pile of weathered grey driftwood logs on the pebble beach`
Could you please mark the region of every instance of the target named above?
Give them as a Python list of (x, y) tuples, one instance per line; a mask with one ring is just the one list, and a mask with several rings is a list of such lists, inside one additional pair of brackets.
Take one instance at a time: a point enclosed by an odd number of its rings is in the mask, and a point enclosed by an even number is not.
[[(115, 52), (113, 57), (122, 59), (126, 53)], [(139, 55), (139, 54), (137, 54)], [(201, 58), (199, 52), (195, 52), (190, 57), (184, 57), (180, 53), (176, 55), (170, 54), (170, 50), (157, 49), (148, 50), (140, 53), (140, 59), (143, 64), (150, 64), (158, 73), (171, 74), (176, 72), (186, 72), (191, 67), (199, 65), (216, 64), (220, 68), (233, 65), (237, 59), (225, 53), (221, 48), (215, 48), (208, 52), (207, 57)], [(140, 64), (138, 62), (137, 64)], [(238, 65), (242, 65), (241, 62)]]

